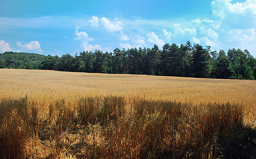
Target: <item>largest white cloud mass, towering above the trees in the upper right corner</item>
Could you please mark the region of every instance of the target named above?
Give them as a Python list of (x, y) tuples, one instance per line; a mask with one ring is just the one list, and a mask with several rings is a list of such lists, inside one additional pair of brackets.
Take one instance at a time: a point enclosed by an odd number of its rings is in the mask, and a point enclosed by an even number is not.
[[(245, 0), (244, 3), (235, 1), (232, 3), (232, 0), (214, 0), (211, 6), (213, 15), (216, 17), (215, 22), (217, 22), (217, 27), (212, 26), (215, 33), (213, 30), (202, 28), (200, 28), (200, 32), (213, 38), (215, 44), (221, 45), (221, 49), (248, 49), (255, 54), (256, 0)], [(215, 39), (210, 34), (215, 36)], [(218, 41), (216, 41), (217, 34)], [(206, 38), (200, 38), (201, 40), (208, 41)]]

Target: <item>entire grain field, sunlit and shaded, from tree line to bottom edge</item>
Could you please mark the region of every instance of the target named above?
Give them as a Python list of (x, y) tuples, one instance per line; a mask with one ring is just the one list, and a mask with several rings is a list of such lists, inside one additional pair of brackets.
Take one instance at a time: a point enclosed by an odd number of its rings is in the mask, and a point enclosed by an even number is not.
[(255, 80), (20, 69), (0, 77), (0, 158), (255, 157)]

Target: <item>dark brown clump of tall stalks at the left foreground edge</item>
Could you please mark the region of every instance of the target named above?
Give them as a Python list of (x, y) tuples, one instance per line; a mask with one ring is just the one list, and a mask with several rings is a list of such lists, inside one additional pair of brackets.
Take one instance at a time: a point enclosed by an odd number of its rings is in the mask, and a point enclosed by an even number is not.
[(27, 97), (0, 101), (0, 158), (23, 157), (29, 123)]

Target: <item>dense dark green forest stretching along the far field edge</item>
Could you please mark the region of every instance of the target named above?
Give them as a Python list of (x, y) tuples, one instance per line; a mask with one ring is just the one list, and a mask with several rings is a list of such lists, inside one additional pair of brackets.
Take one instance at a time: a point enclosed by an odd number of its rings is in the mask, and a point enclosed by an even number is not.
[(148, 74), (197, 78), (255, 79), (256, 59), (248, 50), (211, 51), (199, 44), (165, 44), (162, 50), (131, 48), (113, 53), (100, 50), (78, 55), (44, 56), (34, 53), (4, 52), (0, 68), (48, 69), (72, 72)]

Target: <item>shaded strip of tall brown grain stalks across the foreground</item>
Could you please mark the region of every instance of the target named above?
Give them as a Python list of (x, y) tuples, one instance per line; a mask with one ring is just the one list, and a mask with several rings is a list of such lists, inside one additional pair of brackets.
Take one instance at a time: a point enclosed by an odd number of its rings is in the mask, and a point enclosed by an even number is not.
[(44, 105), (0, 101), (2, 159), (255, 159), (243, 106), (85, 96)]

